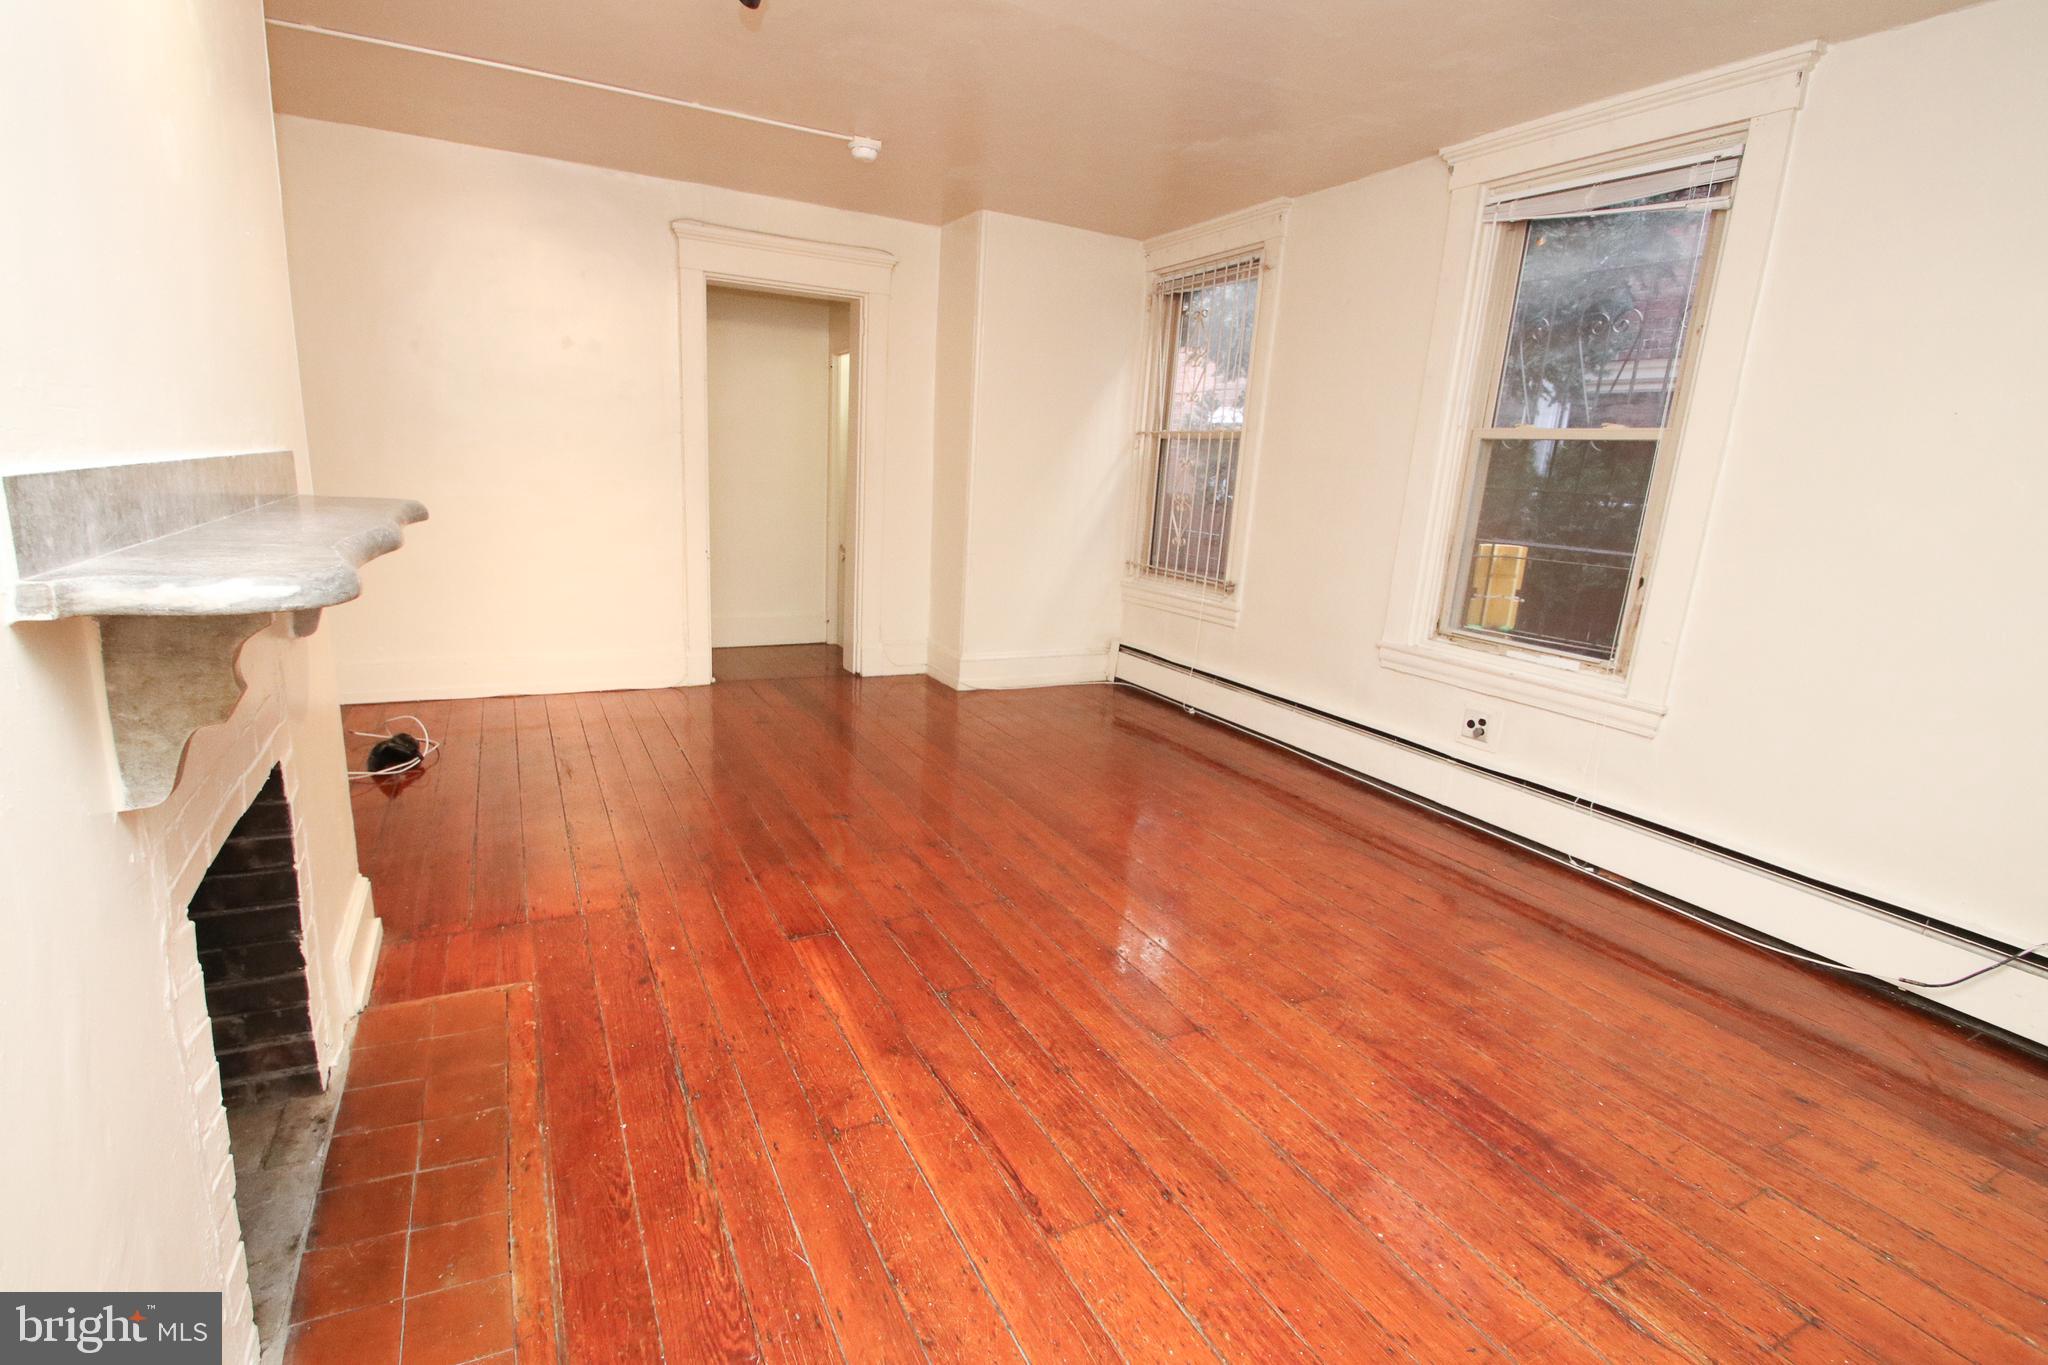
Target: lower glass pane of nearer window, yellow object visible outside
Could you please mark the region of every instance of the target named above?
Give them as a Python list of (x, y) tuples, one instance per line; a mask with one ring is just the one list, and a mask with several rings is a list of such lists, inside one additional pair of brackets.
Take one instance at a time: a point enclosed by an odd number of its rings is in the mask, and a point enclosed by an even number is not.
[(1655, 440), (1489, 440), (1458, 624), (1612, 659)]

